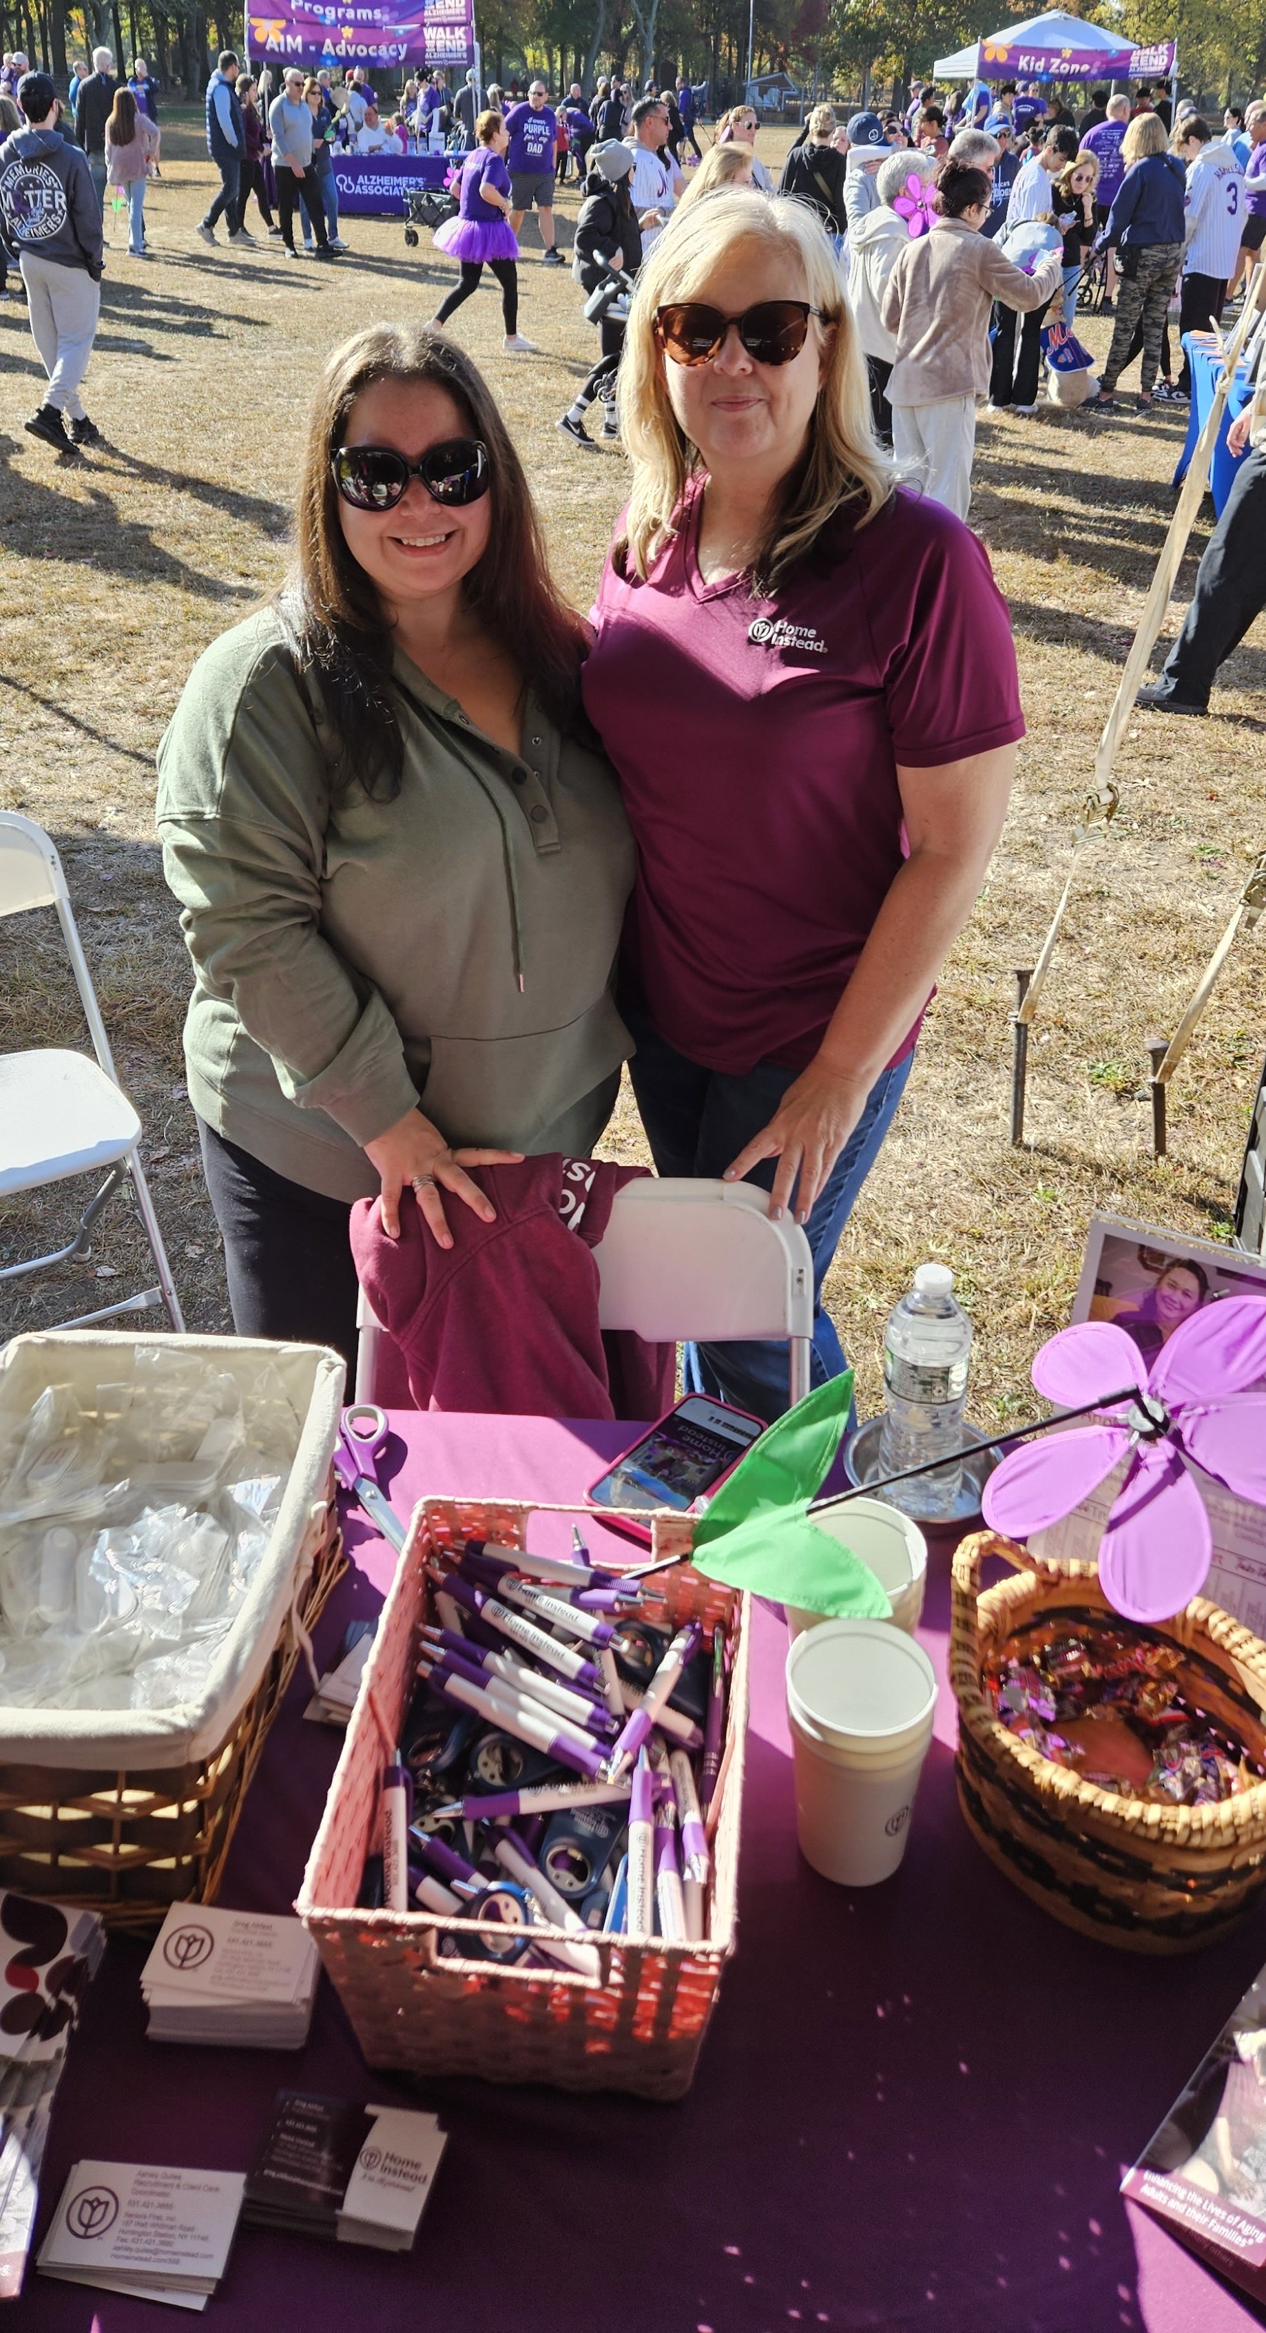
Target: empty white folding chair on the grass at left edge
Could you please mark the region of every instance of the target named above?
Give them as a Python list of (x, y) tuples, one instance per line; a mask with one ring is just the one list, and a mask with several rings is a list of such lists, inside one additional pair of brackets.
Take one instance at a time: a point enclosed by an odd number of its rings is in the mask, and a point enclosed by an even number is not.
[(154, 1255), (159, 1285), (142, 1288), (140, 1295), (124, 1297), (119, 1304), (103, 1304), (100, 1311), (79, 1313), (75, 1320), (61, 1320), (58, 1327), (86, 1327), (93, 1320), (112, 1320), (117, 1313), (166, 1304), (173, 1327), (184, 1332), (168, 1250), (140, 1166), (140, 1118), (119, 1087), (56, 845), (35, 819), (19, 819), (5, 810), (0, 812), (0, 917), (23, 915), (28, 908), (56, 908), (96, 1062), (61, 1045), (0, 1055), (0, 1199), (14, 1199), (23, 1190), (61, 1183), (75, 1173), (107, 1171), (105, 1183), (89, 1199), (70, 1246), (0, 1267), (0, 1283), (21, 1281), (33, 1271), (72, 1264), (89, 1255), (100, 1211), (124, 1176), (131, 1176), (135, 1211)]

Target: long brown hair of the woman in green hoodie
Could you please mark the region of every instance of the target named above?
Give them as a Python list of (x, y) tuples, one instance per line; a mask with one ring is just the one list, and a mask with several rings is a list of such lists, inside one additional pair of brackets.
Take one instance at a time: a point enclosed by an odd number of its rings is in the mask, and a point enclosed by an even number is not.
[(576, 679), (588, 632), (555, 586), (522, 462), (487, 383), (464, 350), (429, 324), (368, 324), (336, 348), (308, 420), (296, 569), (284, 595), (284, 618), (301, 667), (315, 667), (322, 684), (338, 756), (336, 789), (359, 784), (373, 800), (392, 800), (403, 772), (403, 735), (392, 691), (394, 642), (378, 588), (347, 548), (331, 474), (352, 406), (375, 380), (445, 390), (471, 436), (487, 446), (492, 527), (485, 555), (462, 586), (466, 607), (513, 656), (546, 712), (562, 726), (576, 716)]

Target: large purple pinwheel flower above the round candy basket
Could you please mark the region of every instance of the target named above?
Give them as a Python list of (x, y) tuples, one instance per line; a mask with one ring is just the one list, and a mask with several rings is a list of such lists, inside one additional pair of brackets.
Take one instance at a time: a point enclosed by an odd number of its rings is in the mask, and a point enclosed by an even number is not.
[(1156, 1353), (1142, 1353), (1110, 1320), (1065, 1327), (1042, 1346), (1033, 1383), (1075, 1409), (1096, 1390), (1138, 1388), (1103, 1402), (1103, 1425), (1012, 1451), (989, 1479), (984, 1519), (1012, 1540), (1070, 1514), (1128, 1458), (1098, 1549), (1098, 1579), (1126, 1619), (1154, 1621), (1198, 1596), (1212, 1558), (1205, 1502), (1187, 1472), (1203, 1467), (1238, 1498), (1266, 1505), (1266, 1302), (1222, 1297), (1191, 1313)]

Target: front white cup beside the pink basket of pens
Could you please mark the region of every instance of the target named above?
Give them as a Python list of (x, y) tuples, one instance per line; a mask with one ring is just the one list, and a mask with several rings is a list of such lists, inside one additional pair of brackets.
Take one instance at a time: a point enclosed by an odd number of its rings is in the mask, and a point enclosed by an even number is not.
[(828, 1619), (788, 1647), (786, 1698), (800, 1852), (842, 1887), (874, 1887), (905, 1855), (935, 1668), (891, 1621)]

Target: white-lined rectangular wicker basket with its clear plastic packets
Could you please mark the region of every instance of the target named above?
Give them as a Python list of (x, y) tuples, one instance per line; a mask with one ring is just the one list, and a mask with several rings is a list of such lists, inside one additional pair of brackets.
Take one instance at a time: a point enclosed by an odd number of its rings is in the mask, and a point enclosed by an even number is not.
[(126, 1927), (210, 1901), (343, 1570), (343, 1362), (233, 1337), (0, 1355), (0, 1887)]

